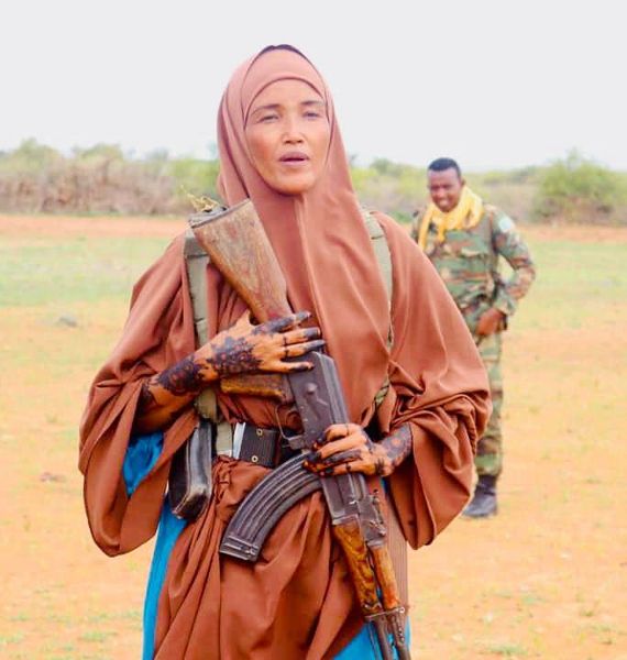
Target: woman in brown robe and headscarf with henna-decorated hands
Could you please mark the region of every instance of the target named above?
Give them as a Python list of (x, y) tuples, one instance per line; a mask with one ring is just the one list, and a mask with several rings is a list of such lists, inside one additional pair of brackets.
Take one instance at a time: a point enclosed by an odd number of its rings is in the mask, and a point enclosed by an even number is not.
[[(123, 336), (84, 416), (80, 469), (91, 532), (108, 554), (128, 552), (154, 535), (161, 516), (146, 658), (361, 653), (363, 622), (319, 493), (282, 518), (252, 565), (220, 558), (218, 546), (267, 469), (218, 457), (211, 503), (199, 519), (185, 525), (164, 506), (170, 459), (197, 421), (190, 403), (226, 375), (307, 369), (307, 352), (324, 342), (352, 424), (329, 429), (309, 469), (386, 477), (391, 508), (417, 548), (468, 501), (488, 411), (486, 378), (438, 275), (406, 232), (377, 215), (393, 260), (389, 308), (330, 94), (305, 56), (279, 46), (244, 63), (224, 92), (218, 141), (221, 195), (228, 206), (252, 199), (298, 314), (252, 326), (242, 300), (209, 266), (212, 339), (195, 351), (183, 239), (173, 242), (135, 286)], [(285, 362), (286, 353), (302, 358)], [(375, 406), (386, 378), (391, 387)], [(272, 399), (216, 392), (231, 424), (297, 428)], [(375, 426), (371, 438), (364, 429)]]

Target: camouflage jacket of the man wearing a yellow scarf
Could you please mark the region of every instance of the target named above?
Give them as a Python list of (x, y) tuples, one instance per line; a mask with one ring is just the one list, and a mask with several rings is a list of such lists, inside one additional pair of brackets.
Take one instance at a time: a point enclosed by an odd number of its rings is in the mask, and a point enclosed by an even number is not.
[[(415, 240), (422, 213), (417, 215), (411, 232)], [(485, 205), (479, 224), (447, 232), (443, 243), (438, 243), (436, 229), (430, 227), (425, 252), (473, 333), (481, 315), (491, 307), (503, 311), (506, 318), (512, 316), (536, 276), (529, 249), (514, 221), (490, 205)], [(499, 256), (512, 266), (508, 279), (501, 275)]]

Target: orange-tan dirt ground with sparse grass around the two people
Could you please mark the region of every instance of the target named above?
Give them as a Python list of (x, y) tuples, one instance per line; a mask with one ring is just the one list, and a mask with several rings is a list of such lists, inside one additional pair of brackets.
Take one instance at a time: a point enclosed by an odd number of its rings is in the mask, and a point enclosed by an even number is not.
[[(16, 253), (25, 237), (166, 242), (182, 229), (168, 219), (0, 217), (0, 244)], [(554, 272), (553, 248), (598, 248), (603, 260), (604, 246), (618, 246), (627, 265), (625, 230), (525, 234), (540, 274)], [(594, 300), (563, 294), (581, 306), (581, 323), (546, 320), (564, 304), (549, 276), (521, 305), (505, 342), (499, 514), (455, 520), (410, 553), (414, 657), (627, 659), (627, 296), (625, 276), (610, 276), (623, 283), (616, 295), (604, 279)], [(131, 660), (152, 543), (101, 554), (76, 468), (87, 389), (127, 301), (77, 301), (76, 322), (59, 309), (51, 300), (0, 315), (0, 658)]]

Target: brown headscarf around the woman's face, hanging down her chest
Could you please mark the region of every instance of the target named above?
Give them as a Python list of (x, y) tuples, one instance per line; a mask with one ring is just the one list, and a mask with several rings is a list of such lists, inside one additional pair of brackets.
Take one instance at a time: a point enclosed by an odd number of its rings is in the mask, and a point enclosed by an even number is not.
[[(331, 140), (316, 186), (285, 196), (253, 167), (244, 136), (255, 97), (272, 82), (307, 82), (327, 103)], [(314, 312), (338, 364), (354, 421), (364, 421), (385, 380), (387, 298), (360, 205), (353, 191), (331, 95), (308, 59), (294, 50), (262, 52), (234, 74), (218, 118), (220, 188), (229, 206), (251, 198), (288, 283), (295, 310)], [(333, 292), (330, 296), (329, 292)], [(367, 346), (355, 351), (354, 346)]]

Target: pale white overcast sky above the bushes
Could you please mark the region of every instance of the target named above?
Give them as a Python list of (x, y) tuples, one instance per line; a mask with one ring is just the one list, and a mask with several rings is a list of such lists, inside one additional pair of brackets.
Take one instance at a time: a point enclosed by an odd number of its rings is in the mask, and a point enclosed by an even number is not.
[(620, 0), (15, 0), (0, 9), (0, 150), (35, 138), (208, 156), (232, 70), (305, 52), (346, 150), (466, 169), (571, 148), (627, 170)]

